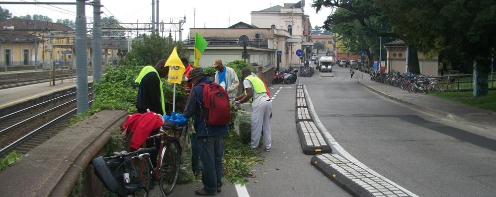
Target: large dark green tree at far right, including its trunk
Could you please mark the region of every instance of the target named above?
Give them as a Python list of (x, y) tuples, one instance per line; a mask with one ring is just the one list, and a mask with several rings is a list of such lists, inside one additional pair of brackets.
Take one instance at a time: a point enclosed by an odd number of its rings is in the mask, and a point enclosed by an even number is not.
[(394, 31), (408, 38), (409, 43), (415, 43), (418, 50), (472, 60), (477, 78), (474, 95), (487, 95), (491, 58), (496, 54), (495, 0), (375, 0), (375, 3)]

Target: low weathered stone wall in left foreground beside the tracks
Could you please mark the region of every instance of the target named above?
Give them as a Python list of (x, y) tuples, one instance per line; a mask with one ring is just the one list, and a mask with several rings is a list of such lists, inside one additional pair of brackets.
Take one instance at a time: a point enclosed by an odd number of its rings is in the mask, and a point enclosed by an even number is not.
[(0, 174), (1, 196), (69, 196), (80, 174), (80, 196), (101, 196), (101, 183), (88, 164), (127, 115), (124, 110), (101, 111), (29, 151)]

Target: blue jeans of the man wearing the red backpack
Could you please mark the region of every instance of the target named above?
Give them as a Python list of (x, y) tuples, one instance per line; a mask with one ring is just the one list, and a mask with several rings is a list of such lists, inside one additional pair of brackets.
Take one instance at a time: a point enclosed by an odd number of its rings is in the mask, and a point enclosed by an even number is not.
[(222, 186), (223, 137), (224, 135), (198, 137), (203, 190), (208, 194), (217, 194), (217, 187)]

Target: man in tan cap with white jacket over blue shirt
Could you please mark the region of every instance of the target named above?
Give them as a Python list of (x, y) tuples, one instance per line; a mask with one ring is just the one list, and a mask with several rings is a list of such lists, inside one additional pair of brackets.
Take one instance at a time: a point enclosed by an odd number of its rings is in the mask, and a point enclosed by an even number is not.
[(222, 60), (219, 59), (215, 60), (212, 66), (217, 69), (215, 71), (214, 81), (227, 91), (230, 100), (235, 98), (238, 86), (240, 85), (236, 71), (233, 68), (224, 66)]

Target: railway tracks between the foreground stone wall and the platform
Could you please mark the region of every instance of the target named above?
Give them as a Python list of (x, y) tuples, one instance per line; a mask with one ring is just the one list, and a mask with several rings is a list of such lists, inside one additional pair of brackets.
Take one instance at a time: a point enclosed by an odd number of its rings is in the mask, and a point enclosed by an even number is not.
[[(91, 92), (89, 104), (92, 99)], [(76, 92), (73, 92), (0, 117), (0, 158), (12, 151), (26, 154), (67, 128), (76, 112)]]

